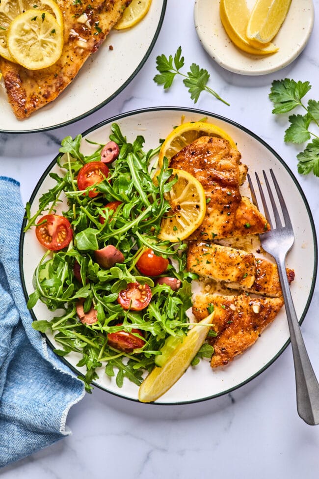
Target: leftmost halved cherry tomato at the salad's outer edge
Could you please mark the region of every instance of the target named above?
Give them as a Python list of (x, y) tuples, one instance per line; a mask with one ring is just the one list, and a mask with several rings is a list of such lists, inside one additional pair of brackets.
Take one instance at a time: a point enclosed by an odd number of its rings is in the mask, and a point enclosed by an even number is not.
[(35, 227), (35, 234), (41, 245), (52, 251), (62, 250), (73, 237), (69, 221), (59, 215), (42, 216)]

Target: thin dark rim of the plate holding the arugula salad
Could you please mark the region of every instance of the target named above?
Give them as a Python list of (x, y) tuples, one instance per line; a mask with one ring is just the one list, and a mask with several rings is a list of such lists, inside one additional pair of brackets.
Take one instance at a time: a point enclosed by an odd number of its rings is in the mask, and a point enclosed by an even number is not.
[[(313, 268), (313, 279), (312, 279), (312, 283), (311, 283), (311, 288), (310, 288), (310, 292), (309, 292), (309, 295), (308, 295), (308, 298), (307, 298), (307, 302), (306, 302), (306, 305), (305, 305), (305, 308), (301, 314), (301, 317), (300, 317), (300, 320), (299, 320), (299, 324), (301, 325), (305, 319), (305, 316), (307, 314), (307, 311), (310, 307), (310, 304), (311, 304), (311, 301), (312, 301), (312, 298), (313, 298), (313, 294), (314, 294), (314, 290), (315, 290), (315, 285), (316, 285), (316, 279), (317, 279), (317, 273), (318, 273), (318, 242), (317, 242), (317, 233), (316, 233), (316, 227), (315, 227), (315, 223), (314, 223), (314, 219), (313, 219), (313, 216), (312, 216), (312, 212), (311, 212), (311, 209), (310, 209), (310, 206), (309, 206), (309, 203), (308, 203), (308, 200), (301, 188), (301, 186), (299, 185), (298, 181), (297, 181), (297, 178), (294, 176), (292, 170), (290, 169), (290, 167), (286, 164), (286, 162), (281, 158), (281, 156), (266, 142), (264, 141), (262, 138), (260, 138), (257, 134), (255, 134), (254, 132), (252, 132), (251, 130), (249, 130), (248, 128), (246, 128), (245, 126), (243, 125), (240, 125), (239, 123), (229, 119), (229, 118), (226, 118), (224, 116), (221, 116), (219, 114), (216, 114), (216, 113), (211, 113), (211, 112), (208, 112), (208, 111), (205, 111), (205, 110), (200, 110), (200, 109), (195, 109), (195, 108), (187, 108), (187, 107), (168, 107), (168, 106), (163, 106), (163, 107), (149, 107), (149, 108), (141, 108), (141, 109), (137, 109), (137, 110), (131, 110), (129, 112), (125, 112), (125, 113), (120, 113), (118, 115), (115, 115), (115, 116), (112, 116), (112, 117), (109, 117), (99, 123), (97, 123), (96, 125), (88, 128), (87, 130), (85, 130), (81, 136), (82, 138), (84, 138), (85, 136), (87, 136), (89, 133), (91, 133), (92, 131), (95, 131), (101, 127), (103, 127), (104, 125), (108, 124), (108, 123), (113, 123), (113, 122), (116, 122), (122, 118), (126, 118), (126, 117), (129, 117), (129, 116), (134, 116), (136, 114), (140, 114), (140, 113), (152, 113), (152, 112), (159, 112), (159, 111), (172, 111), (172, 112), (187, 112), (187, 113), (195, 113), (195, 114), (200, 114), (200, 115), (208, 115), (208, 116), (211, 116), (213, 118), (216, 118), (218, 120), (222, 120), (222, 121), (225, 121), (226, 123), (229, 123), (230, 125), (232, 126), (235, 126), (236, 128), (239, 128), (240, 130), (242, 130), (243, 132), (247, 133), (248, 135), (250, 135), (252, 138), (254, 138), (255, 140), (259, 141), (263, 146), (265, 146), (275, 157), (276, 159), (279, 161), (279, 163), (286, 169), (286, 171), (289, 173), (290, 177), (292, 178), (292, 181), (294, 182), (300, 196), (301, 196), (301, 199), (306, 207), (306, 210), (307, 210), (307, 213), (308, 213), (308, 218), (309, 218), (309, 221), (310, 221), (310, 225), (311, 225), (311, 230), (312, 230), (312, 238), (313, 238), (313, 242), (314, 242), (314, 268)], [(45, 169), (45, 171), (43, 172), (43, 174), (41, 175), (41, 177), (39, 178), (31, 196), (30, 196), (30, 199), (28, 201), (28, 203), (32, 204), (32, 201), (34, 200), (34, 198), (36, 197), (40, 187), (41, 187), (41, 184), (43, 183), (44, 179), (47, 177), (48, 173), (51, 171), (51, 169), (53, 168), (53, 166), (56, 164), (56, 160), (59, 156), (59, 153), (53, 158), (52, 162), (49, 164), (49, 166)], [(20, 241), (19, 241), (19, 271), (20, 271), (20, 278), (21, 278), (21, 283), (22, 283), (22, 288), (23, 288), (23, 293), (24, 293), (24, 296), (25, 296), (25, 299), (26, 301), (28, 300), (28, 294), (27, 294), (27, 287), (26, 287), (26, 283), (25, 283), (25, 279), (24, 279), (24, 269), (23, 269), (23, 246), (24, 246), (24, 238), (25, 238), (25, 233), (24, 233), (24, 227), (27, 223), (27, 218), (24, 217), (23, 219), (23, 223), (22, 223), (22, 227), (21, 227), (21, 232), (20, 232)], [(37, 318), (33, 312), (33, 309), (29, 310), (30, 312), (30, 315), (32, 317), (32, 320), (33, 321), (37, 321)], [(47, 336), (44, 334), (44, 333), (41, 333), (41, 335), (46, 338), (46, 342), (47, 344), (51, 347), (51, 349), (54, 349), (54, 346), (52, 344), (52, 342), (50, 341), (50, 339), (47, 338)], [(198, 403), (198, 402), (203, 402), (203, 401), (207, 401), (209, 399), (214, 399), (216, 397), (220, 397), (220, 396), (223, 396), (225, 394), (229, 394), (233, 391), (236, 391), (237, 389), (241, 388), (242, 386), (244, 386), (245, 384), (249, 383), (250, 381), (252, 381), (253, 379), (255, 379), (256, 377), (258, 377), (260, 374), (262, 374), (262, 372), (264, 372), (270, 365), (272, 365), (277, 359), (278, 357), (285, 351), (285, 349), (288, 347), (288, 345), (290, 344), (291, 342), (291, 339), (290, 337), (288, 338), (288, 340), (283, 344), (283, 346), (281, 347), (281, 349), (273, 356), (273, 358), (271, 358), (270, 361), (268, 361), (268, 363), (266, 363), (263, 367), (261, 367), (258, 371), (256, 371), (254, 374), (252, 374), (251, 376), (249, 376), (248, 378), (246, 378), (244, 381), (242, 381), (241, 383), (235, 385), (234, 387), (231, 387), (225, 391), (221, 391), (219, 393), (215, 393), (215, 394), (212, 394), (212, 395), (209, 395), (209, 396), (205, 396), (205, 397), (202, 397), (202, 398), (199, 398), (199, 399), (191, 399), (191, 400), (185, 400), (185, 401), (173, 401), (173, 402), (160, 402), (160, 400), (156, 401), (156, 402), (152, 402), (152, 403), (146, 403), (146, 404), (152, 404), (152, 405), (159, 405), (159, 406), (177, 406), (177, 405), (184, 405), (184, 404), (193, 404), (193, 403)], [(72, 364), (70, 364), (64, 357), (60, 357), (59, 356), (59, 359), (66, 365), (68, 366), (73, 372), (75, 372), (76, 374), (79, 374), (79, 370), (73, 366)], [(123, 399), (127, 399), (129, 401), (133, 401), (133, 402), (137, 402), (137, 403), (140, 403), (140, 401), (138, 399), (135, 399), (133, 397), (128, 397), (124, 394), (121, 394), (120, 392), (115, 392), (115, 391), (109, 391), (108, 389), (106, 389), (105, 387), (101, 386), (100, 384), (97, 384), (95, 381), (92, 382), (92, 385), (108, 394), (113, 394), (115, 396), (118, 396), (118, 397), (121, 397)]]

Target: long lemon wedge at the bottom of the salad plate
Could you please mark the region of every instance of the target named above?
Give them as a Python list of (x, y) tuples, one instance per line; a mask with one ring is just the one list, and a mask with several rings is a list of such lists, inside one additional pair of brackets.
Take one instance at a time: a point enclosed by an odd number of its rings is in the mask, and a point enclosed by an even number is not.
[(155, 366), (138, 390), (141, 402), (152, 402), (171, 388), (184, 374), (210, 330), (214, 313), (195, 324), (161, 367)]

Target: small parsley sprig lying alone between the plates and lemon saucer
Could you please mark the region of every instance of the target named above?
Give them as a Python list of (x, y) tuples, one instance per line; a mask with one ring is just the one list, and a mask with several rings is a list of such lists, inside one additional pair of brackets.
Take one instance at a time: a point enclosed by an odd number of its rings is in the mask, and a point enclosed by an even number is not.
[(192, 63), (189, 67), (187, 75), (180, 71), (185, 64), (181, 47), (178, 47), (174, 58), (172, 55), (170, 55), (168, 58), (165, 55), (157, 56), (156, 64), (156, 68), (160, 74), (155, 75), (153, 80), (158, 85), (163, 85), (165, 90), (172, 85), (176, 75), (181, 75), (184, 77), (183, 83), (188, 88), (190, 98), (194, 101), (194, 103), (197, 102), (202, 91), (207, 91), (217, 98), (217, 100), (220, 100), (221, 102), (225, 103), (225, 105), (229, 106), (229, 103), (223, 100), (218, 93), (212, 90), (212, 88), (207, 86), (207, 83), (210, 79), (210, 74), (207, 70), (200, 68), (198, 65), (196, 65), (196, 63)]

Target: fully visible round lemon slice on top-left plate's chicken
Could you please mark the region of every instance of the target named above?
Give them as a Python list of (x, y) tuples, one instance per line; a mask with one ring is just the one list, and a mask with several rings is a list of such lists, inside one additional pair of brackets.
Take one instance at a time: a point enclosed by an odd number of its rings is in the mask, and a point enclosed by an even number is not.
[(47, 68), (61, 56), (62, 27), (51, 13), (29, 9), (11, 22), (7, 46), (15, 61), (28, 70)]

